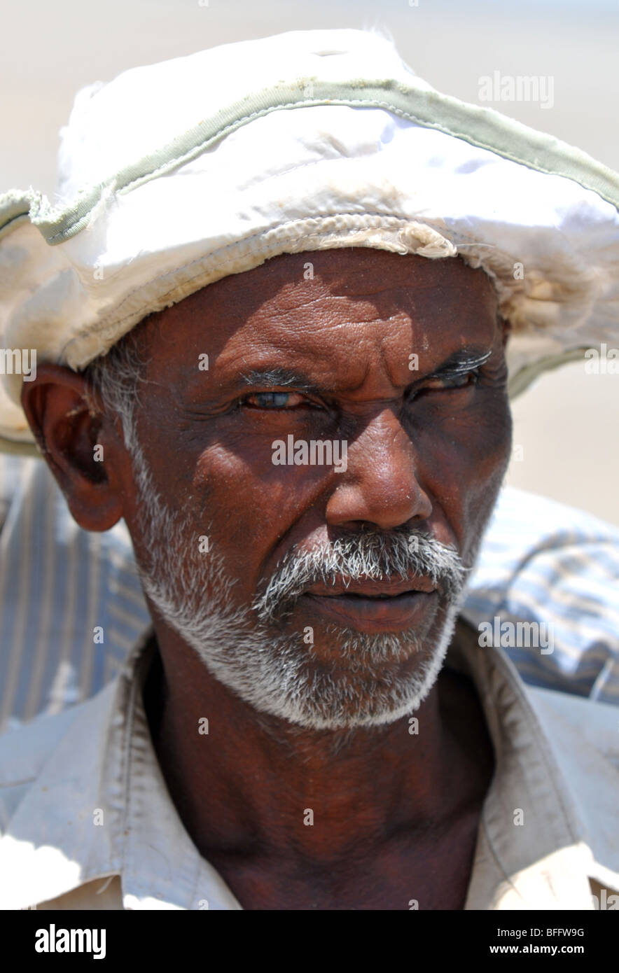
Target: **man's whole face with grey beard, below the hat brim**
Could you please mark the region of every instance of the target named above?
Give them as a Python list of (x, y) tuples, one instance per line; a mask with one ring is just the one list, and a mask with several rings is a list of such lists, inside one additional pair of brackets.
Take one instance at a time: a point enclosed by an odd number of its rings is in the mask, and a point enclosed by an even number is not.
[(363, 248), (282, 255), (141, 327), (127, 522), (160, 624), (294, 723), (413, 711), (511, 446), (488, 277)]

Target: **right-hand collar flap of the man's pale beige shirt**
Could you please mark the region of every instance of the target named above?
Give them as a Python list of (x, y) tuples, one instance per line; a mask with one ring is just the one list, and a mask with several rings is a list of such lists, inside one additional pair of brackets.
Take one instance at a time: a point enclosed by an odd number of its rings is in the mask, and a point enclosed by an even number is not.
[(458, 634), (448, 665), (473, 680), (495, 759), (464, 908), (589, 910), (593, 853), (528, 690), (500, 649)]

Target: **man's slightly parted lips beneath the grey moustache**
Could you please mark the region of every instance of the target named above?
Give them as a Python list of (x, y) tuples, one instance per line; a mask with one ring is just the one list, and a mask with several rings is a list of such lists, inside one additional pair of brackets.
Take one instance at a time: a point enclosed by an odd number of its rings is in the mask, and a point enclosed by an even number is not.
[(429, 578), (397, 578), (392, 581), (322, 582), (303, 595), (332, 621), (359, 631), (402, 631), (436, 610), (438, 591)]

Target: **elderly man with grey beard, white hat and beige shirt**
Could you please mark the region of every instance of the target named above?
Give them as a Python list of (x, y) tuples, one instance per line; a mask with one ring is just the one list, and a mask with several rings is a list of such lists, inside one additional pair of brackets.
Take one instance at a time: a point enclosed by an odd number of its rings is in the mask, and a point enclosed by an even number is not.
[(617, 334), (617, 177), (357, 31), (81, 92), (60, 168), (1, 204), (2, 430), (153, 629), (0, 742), (5, 908), (613, 902), (616, 709), (458, 613), (508, 388)]

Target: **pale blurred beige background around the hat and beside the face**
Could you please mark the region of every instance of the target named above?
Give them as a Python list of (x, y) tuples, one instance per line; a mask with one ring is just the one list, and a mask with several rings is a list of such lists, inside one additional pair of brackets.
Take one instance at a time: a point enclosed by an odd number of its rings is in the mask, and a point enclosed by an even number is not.
[[(5, 5), (0, 190), (54, 198), (58, 130), (76, 90), (141, 64), (287, 30), (382, 27), (438, 90), (479, 102), (480, 78), (548, 79), (552, 98), (488, 103), (619, 170), (617, 0), (43, 0)], [(617, 340), (619, 345), (619, 336)], [(581, 363), (514, 404), (507, 482), (619, 523), (619, 375)]]

